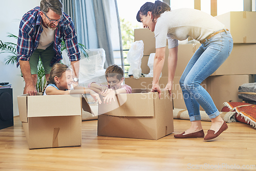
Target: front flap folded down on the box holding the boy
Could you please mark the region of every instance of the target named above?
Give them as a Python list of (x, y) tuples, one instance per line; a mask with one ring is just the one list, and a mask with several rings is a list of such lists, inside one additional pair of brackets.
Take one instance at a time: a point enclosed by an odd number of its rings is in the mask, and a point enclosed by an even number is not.
[(156, 93), (118, 94), (115, 101), (112, 99), (109, 104), (103, 103), (101, 99), (98, 114), (126, 117), (154, 116), (154, 94)]

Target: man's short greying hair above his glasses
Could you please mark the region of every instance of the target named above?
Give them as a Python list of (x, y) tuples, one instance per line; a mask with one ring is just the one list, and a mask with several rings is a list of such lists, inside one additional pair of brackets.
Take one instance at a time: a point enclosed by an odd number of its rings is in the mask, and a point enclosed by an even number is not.
[(41, 0), (40, 10), (48, 13), (49, 9), (53, 10), (58, 15), (62, 15), (63, 4), (60, 0)]

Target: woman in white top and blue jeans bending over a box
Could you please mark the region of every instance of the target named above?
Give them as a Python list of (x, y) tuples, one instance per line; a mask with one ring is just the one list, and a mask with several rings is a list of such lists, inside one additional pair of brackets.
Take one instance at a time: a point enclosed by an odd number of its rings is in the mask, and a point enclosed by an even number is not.
[[(200, 83), (214, 73), (227, 59), (233, 48), (230, 32), (216, 18), (195, 9), (170, 10), (160, 1), (145, 3), (137, 14), (138, 22), (144, 28), (155, 33), (156, 54), (154, 59), (154, 77), (151, 91), (159, 92), (159, 76), (165, 59), (166, 37), (168, 40), (168, 82), (165, 89), (171, 92), (177, 66), (178, 40), (188, 36), (202, 44), (188, 62), (180, 79), (183, 98), (188, 110), (191, 126), (175, 138), (204, 138), (211, 140), (218, 137), (228, 126), (220, 117), (214, 101)], [(211, 119), (211, 127), (204, 137), (199, 106)]]

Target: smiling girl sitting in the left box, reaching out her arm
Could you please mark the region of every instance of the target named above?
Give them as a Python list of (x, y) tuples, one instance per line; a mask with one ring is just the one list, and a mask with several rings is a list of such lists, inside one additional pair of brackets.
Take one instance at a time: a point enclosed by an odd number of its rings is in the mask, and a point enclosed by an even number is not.
[(99, 95), (91, 89), (74, 84), (71, 68), (56, 63), (51, 69), (47, 87), (42, 91), (42, 95), (90, 94), (95, 101), (98, 99), (99, 104), (101, 104)]

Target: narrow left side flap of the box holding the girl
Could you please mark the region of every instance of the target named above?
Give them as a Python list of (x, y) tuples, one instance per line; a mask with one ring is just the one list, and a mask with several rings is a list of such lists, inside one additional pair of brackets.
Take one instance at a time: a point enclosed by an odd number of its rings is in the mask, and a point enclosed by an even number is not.
[(27, 118), (27, 96), (28, 94), (23, 94), (17, 97), (18, 99), (18, 113), (19, 120), (22, 122), (28, 122)]

